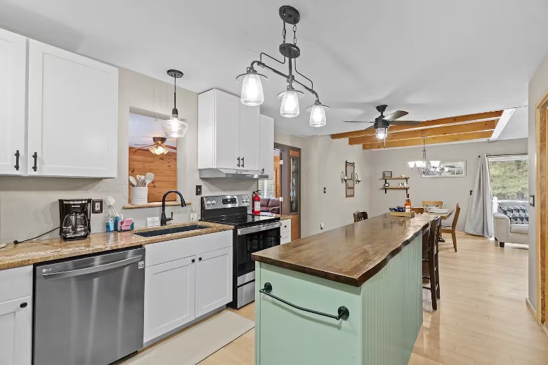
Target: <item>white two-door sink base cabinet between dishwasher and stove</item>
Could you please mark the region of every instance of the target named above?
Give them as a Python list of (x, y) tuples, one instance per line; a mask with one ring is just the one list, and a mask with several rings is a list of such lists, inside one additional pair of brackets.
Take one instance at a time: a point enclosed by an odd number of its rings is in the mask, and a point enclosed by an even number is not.
[(232, 230), (145, 249), (145, 345), (232, 301)]

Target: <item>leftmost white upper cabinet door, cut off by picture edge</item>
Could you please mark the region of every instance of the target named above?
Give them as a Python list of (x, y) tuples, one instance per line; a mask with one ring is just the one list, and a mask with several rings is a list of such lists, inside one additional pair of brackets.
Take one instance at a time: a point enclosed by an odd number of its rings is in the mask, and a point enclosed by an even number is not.
[[(0, 174), (25, 173), (27, 39), (0, 29)], [(19, 152), (19, 159), (15, 156)], [(19, 164), (16, 162), (19, 161)], [(15, 167), (18, 165), (18, 167)]]

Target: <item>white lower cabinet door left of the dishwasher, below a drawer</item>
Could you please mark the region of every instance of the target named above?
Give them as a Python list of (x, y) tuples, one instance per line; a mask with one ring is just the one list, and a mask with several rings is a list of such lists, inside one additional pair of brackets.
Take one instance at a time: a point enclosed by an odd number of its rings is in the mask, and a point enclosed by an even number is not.
[(0, 303), (0, 364), (30, 365), (31, 358), (32, 296)]

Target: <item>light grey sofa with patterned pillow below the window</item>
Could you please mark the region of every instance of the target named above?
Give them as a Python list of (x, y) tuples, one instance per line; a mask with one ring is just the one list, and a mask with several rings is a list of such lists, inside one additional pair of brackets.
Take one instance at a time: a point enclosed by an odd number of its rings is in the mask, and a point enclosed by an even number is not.
[(493, 213), (493, 232), (500, 247), (504, 243), (529, 244), (527, 201), (499, 201)]

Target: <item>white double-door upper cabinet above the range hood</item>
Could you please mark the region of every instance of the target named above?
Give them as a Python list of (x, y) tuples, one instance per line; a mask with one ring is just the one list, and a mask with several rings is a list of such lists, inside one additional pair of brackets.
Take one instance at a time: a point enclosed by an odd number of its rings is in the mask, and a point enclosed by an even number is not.
[(259, 107), (211, 89), (198, 95), (198, 168), (259, 171)]

